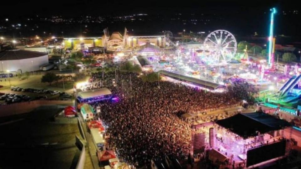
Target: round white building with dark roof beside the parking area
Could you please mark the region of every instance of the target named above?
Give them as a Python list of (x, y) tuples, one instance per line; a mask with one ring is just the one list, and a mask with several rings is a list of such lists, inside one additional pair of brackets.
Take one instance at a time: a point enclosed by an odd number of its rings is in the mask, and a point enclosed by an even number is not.
[(48, 54), (43, 52), (10, 49), (0, 52), (2, 72), (30, 72), (40, 70), (40, 66), (48, 64)]

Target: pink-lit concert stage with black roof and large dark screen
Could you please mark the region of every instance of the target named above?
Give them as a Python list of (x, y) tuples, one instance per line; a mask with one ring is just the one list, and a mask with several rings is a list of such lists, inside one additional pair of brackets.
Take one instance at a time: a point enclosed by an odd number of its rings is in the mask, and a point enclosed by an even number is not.
[(265, 113), (239, 113), (216, 122), (210, 129), (210, 146), (247, 168), (260, 166), (287, 155), (284, 129), (288, 126), (287, 121)]

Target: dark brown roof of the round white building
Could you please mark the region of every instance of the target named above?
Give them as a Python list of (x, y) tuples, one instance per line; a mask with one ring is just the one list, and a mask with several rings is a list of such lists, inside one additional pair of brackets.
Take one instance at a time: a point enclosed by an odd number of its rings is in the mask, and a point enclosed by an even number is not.
[(20, 60), (45, 56), (47, 53), (29, 50), (11, 49), (0, 52), (0, 60)]

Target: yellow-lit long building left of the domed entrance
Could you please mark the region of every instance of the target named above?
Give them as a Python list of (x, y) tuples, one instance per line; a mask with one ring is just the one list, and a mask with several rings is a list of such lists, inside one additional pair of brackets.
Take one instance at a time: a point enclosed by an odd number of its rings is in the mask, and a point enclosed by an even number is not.
[(85, 50), (91, 47), (103, 47), (102, 37), (86, 37), (86, 38), (64, 38), (63, 45), (65, 49)]

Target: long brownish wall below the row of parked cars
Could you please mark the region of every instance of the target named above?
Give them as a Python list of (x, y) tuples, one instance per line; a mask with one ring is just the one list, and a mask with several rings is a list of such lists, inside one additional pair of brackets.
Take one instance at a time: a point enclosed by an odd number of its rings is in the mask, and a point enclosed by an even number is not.
[(42, 105), (72, 105), (71, 100), (34, 100), (30, 102), (0, 105), (0, 117), (28, 113)]

